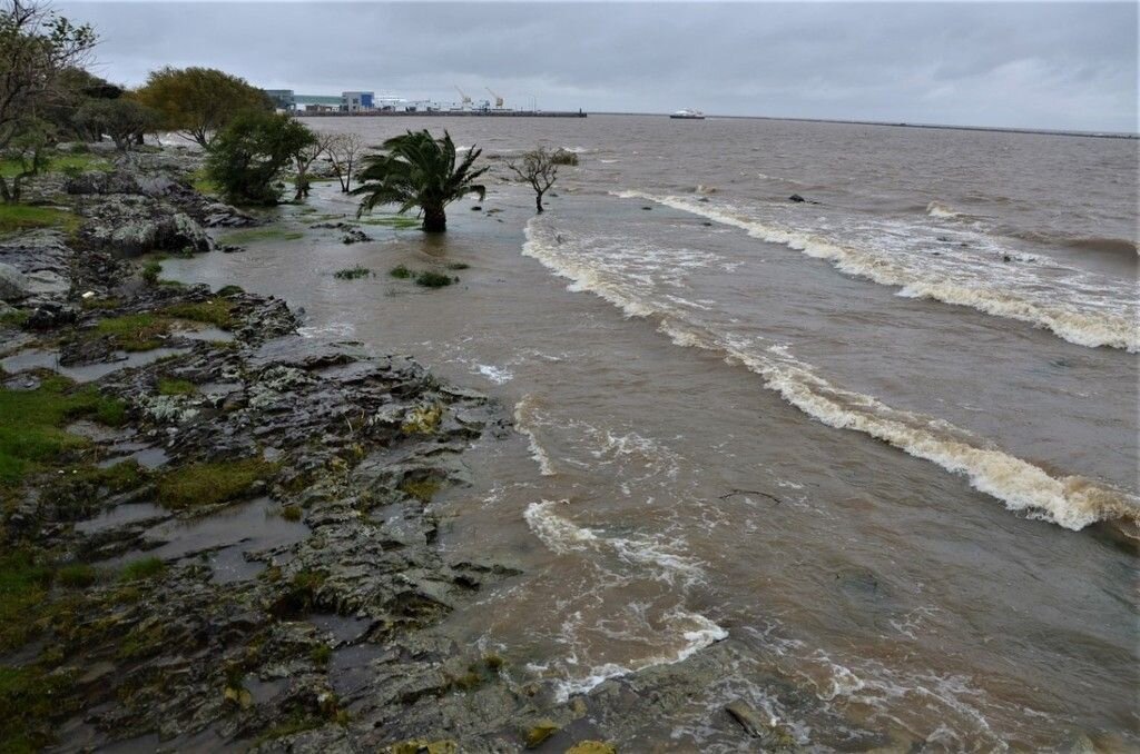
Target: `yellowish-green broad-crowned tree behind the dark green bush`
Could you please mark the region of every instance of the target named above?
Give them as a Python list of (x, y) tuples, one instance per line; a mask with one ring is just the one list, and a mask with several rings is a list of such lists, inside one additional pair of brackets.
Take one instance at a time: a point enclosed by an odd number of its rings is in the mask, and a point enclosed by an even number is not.
[(214, 68), (152, 71), (138, 90), (140, 103), (162, 114), (163, 128), (209, 148), (214, 137), (245, 110), (272, 112), (263, 91)]

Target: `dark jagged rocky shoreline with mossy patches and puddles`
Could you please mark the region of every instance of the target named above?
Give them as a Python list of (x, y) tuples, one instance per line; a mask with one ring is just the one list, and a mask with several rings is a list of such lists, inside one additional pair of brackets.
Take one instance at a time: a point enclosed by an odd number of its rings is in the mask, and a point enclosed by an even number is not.
[[(255, 223), (194, 190), (196, 166), (165, 149), (49, 175), (35, 188), (71, 227), (0, 239), (0, 410), (23, 417), (0, 435), (7, 739), (604, 754), (731, 673), (727, 640), (565, 702), (435, 631), (520, 576), (450, 559), (432, 505), (507, 413), (409, 356), (304, 338), (279, 300), (160, 279), (153, 252)], [(807, 743), (743, 699), (709, 714), (746, 749)], [(887, 743), (834, 729), (814, 743)]]

